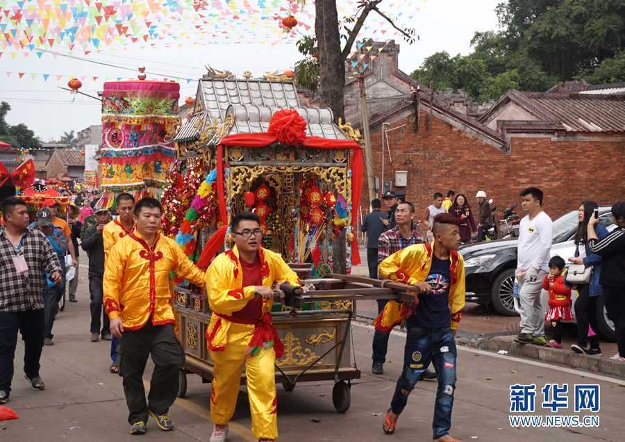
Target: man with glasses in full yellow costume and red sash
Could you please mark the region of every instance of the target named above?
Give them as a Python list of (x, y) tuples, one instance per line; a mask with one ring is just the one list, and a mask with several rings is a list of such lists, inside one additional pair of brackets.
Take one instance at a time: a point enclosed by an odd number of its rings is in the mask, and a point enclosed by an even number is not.
[[(278, 437), (274, 363), (284, 345), (272, 325), (275, 284), (299, 286), (299, 278), (279, 254), (260, 247), (260, 218), (251, 212), (231, 222), (235, 247), (215, 258), (206, 270), (206, 293), (213, 309), (206, 339), (215, 363), (210, 442), (224, 442), (245, 365), (252, 432), (258, 441)], [(308, 288), (303, 287), (306, 293)]]

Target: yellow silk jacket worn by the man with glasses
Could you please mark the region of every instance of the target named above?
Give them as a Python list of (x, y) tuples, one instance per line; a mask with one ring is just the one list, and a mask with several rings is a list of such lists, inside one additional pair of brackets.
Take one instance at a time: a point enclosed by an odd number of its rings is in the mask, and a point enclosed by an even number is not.
[[(258, 249), (258, 254), (263, 286), (273, 288), (276, 282), (284, 281), (293, 286), (300, 285), (297, 274), (284, 262), (282, 256), (263, 247)], [(242, 310), (255, 296), (253, 286), (242, 287), (242, 285), (243, 272), (239, 252), (235, 246), (217, 256), (206, 270), (208, 304), (213, 312), (217, 313), (210, 318), (210, 325), (206, 331), (210, 350), (224, 350), (228, 342), (228, 329), (232, 322), (223, 316), (231, 316), (233, 312)], [(271, 311), (273, 305), (273, 299), (263, 300), (263, 316)], [(260, 319), (258, 318), (259, 321)]]

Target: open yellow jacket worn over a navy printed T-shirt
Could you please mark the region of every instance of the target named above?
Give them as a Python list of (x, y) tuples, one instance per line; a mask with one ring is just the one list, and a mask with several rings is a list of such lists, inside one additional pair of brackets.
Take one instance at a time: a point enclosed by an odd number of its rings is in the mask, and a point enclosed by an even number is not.
[[(380, 263), (380, 275), (383, 279), (403, 282), (410, 286), (417, 281), (425, 281), (432, 266), (432, 244), (415, 244), (399, 252), (388, 256)], [(460, 322), (460, 310), (465, 306), (465, 261), (462, 255), (453, 250), (450, 251), (449, 274), (451, 286), (449, 286), (449, 307), (451, 313), (451, 329), (458, 328)], [(405, 304), (389, 301), (384, 310), (374, 320), (376, 329), (390, 331), (401, 322), (405, 310)], [(416, 307), (417, 309), (419, 306)]]

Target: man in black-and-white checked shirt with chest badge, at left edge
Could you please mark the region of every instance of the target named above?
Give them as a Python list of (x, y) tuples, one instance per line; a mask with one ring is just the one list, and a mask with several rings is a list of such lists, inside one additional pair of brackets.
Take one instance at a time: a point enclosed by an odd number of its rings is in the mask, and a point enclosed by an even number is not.
[(43, 390), (39, 376), (44, 345), (44, 274), (60, 284), (57, 254), (41, 231), (28, 229), (24, 199), (2, 201), (5, 226), (0, 227), (0, 404), (11, 392), (17, 332), (24, 340), (24, 376), (35, 390)]

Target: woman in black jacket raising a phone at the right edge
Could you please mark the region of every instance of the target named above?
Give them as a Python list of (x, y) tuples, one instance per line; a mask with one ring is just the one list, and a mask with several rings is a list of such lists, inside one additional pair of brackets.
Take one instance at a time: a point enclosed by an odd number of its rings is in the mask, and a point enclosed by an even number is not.
[(588, 247), (590, 252), (601, 256), (599, 284), (617, 336), (619, 352), (610, 359), (625, 362), (625, 201), (612, 206), (612, 222), (618, 228), (601, 240), (594, 233), (597, 222), (592, 215), (588, 222)]

